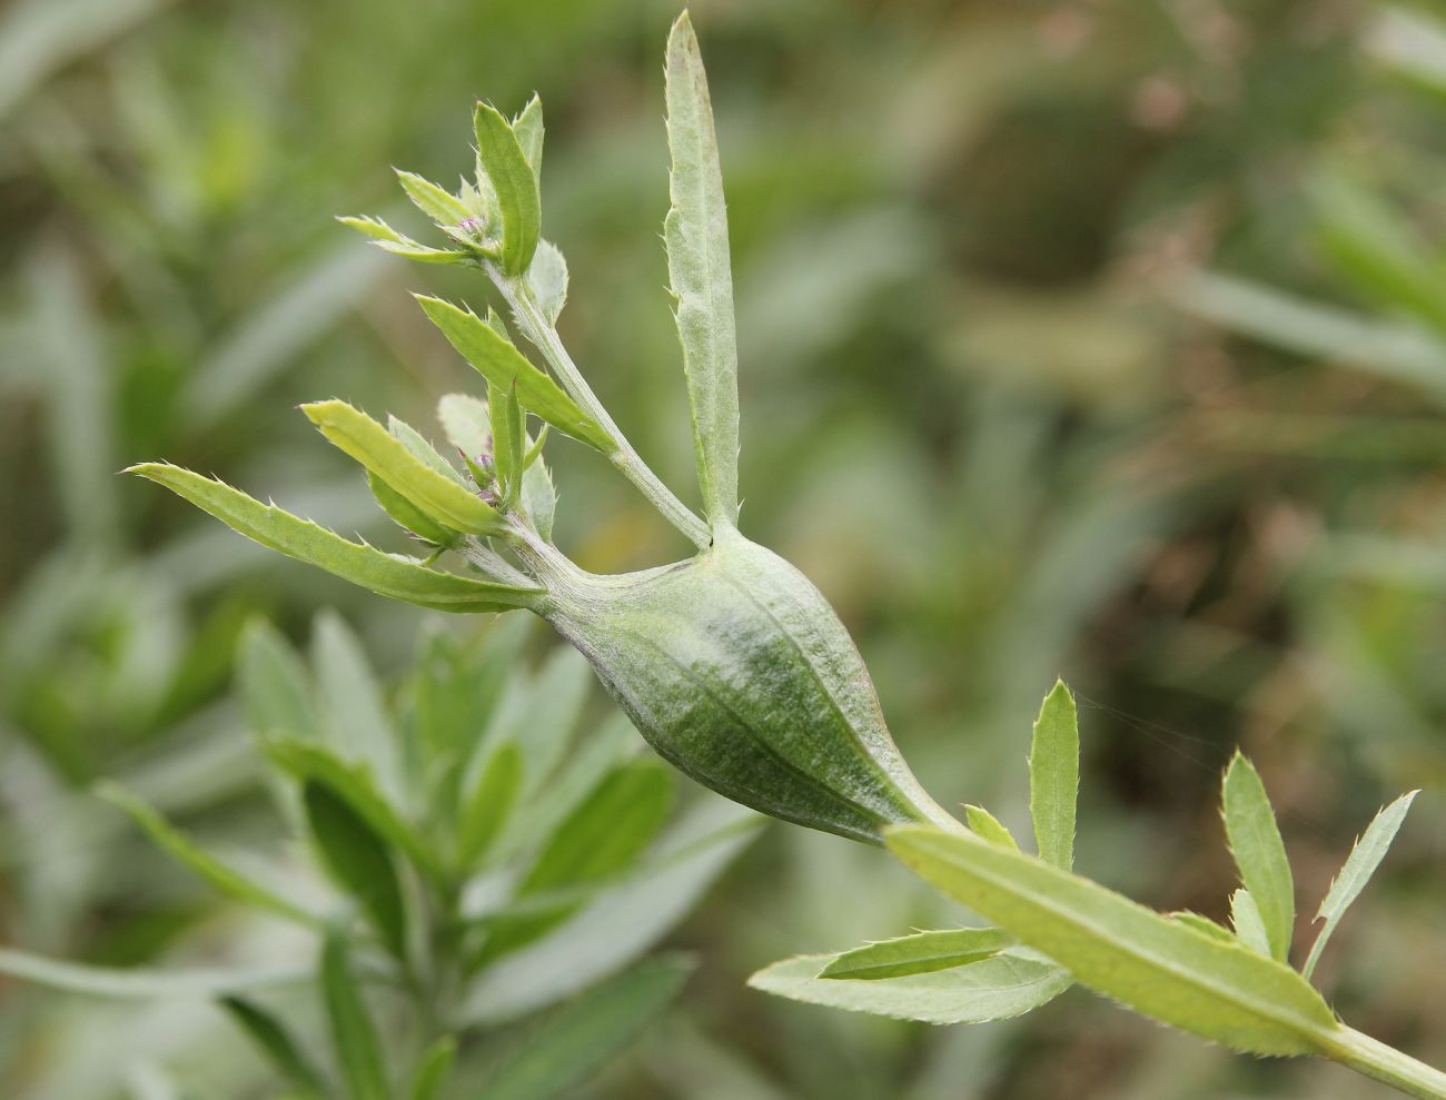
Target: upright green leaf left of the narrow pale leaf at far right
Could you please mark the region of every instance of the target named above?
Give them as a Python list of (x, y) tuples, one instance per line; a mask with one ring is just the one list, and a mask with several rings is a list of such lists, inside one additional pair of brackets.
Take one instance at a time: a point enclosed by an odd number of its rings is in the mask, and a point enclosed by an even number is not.
[(1296, 931), (1296, 885), (1265, 785), (1255, 766), (1238, 752), (1225, 769), (1222, 802), (1225, 835), (1241, 882), (1259, 908), (1271, 955), (1285, 961)]

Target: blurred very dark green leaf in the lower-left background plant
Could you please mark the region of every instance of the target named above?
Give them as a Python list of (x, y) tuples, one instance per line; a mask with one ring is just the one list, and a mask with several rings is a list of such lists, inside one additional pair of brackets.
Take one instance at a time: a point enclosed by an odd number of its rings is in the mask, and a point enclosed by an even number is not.
[(405, 957), (406, 903), (386, 843), (330, 786), (308, 782), (301, 796), (311, 835), (331, 876), (357, 899), (388, 950)]

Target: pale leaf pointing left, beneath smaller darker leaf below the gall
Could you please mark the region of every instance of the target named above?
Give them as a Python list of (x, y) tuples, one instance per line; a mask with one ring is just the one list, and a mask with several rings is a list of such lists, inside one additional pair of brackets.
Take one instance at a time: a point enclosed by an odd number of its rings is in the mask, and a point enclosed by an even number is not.
[[(852, 954), (852, 953), (846, 953)], [(1054, 1000), (1073, 984), (1061, 967), (1012, 948), (991, 958), (876, 981), (826, 979), (840, 955), (797, 955), (753, 974), (748, 984), (810, 1005), (924, 1023), (988, 1023)]]

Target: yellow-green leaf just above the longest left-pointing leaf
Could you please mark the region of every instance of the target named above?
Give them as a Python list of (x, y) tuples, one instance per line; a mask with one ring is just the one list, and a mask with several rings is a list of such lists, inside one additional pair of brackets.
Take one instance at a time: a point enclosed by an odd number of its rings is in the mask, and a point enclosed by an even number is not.
[(301, 409), (328, 442), (356, 458), (435, 522), (473, 535), (505, 529), (496, 509), (432, 470), (360, 409), (343, 400), (314, 402)]

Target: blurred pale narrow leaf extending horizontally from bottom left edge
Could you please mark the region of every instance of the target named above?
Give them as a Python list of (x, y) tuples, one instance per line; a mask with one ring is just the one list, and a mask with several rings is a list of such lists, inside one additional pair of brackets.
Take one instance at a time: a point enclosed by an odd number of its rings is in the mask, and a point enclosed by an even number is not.
[(119, 1000), (158, 997), (218, 997), (276, 986), (295, 986), (311, 977), (305, 967), (252, 967), (244, 970), (146, 970), (140, 967), (94, 967), (45, 958), (29, 951), (0, 947), (0, 974), (35, 981), (67, 993)]

